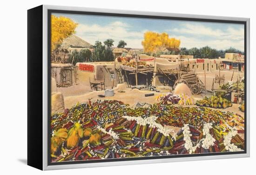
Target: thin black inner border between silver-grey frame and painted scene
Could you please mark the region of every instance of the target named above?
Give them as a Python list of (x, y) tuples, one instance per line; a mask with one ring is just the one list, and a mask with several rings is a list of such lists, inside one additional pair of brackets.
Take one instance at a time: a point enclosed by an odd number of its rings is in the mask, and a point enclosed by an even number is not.
[[(244, 25), (244, 151), (236, 152), (217, 152), (217, 153), (201, 153), (201, 154), (186, 154), (186, 155), (171, 155), (171, 156), (152, 156), (152, 157), (134, 157), (134, 158), (116, 158), (116, 159), (99, 159), (99, 160), (86, 160), (86, 161), (67, 161), (67, 162), (51, 162), (51, 135), (50, 135), (50, 121), (51, 121), (51, 14), (52, 13), (67, 13), (67, 14), (81, 14), (81, 15), (95, 15), (95, 16), (112, 16), (112, 17), (128, 17), (128, 18), (146, 18), (146, 19), (169, 19), (169, 20), (182, 20), (182, 21), (198, 21), (198, 22), (215, 22), (215, 23), (230, 23), (230, 24), (243, 24)], [(189, 16), (189, 14), (188, 14)], [(167, 17), (167, 16), (154, 16), (154, 15), (137, 15), (137, 14), (124, 14), (124, 13), (108, 13), (108, 12), (83, 12), (83, 11), (70, 11), (70, 10), (47, 10), (47, 67), (48, 67), (48, 117), (47, 117), (47, 165), (67, 165), (79, 163), (96, 163), (96, 162), (119, 162), (119, 161), (136, 161), (136, 160), (150, 160), (150, 159), (163, 159), (163, 158), (177, 158), (177, 157), (195, 157), (195, 156), (220, 156), (220, 155), (235, 155), (247, 153), (247, 22), (239, 20), (222, 20), (222, 19), (201, 19), (201, 18), (183, 18), (183, 17)]]

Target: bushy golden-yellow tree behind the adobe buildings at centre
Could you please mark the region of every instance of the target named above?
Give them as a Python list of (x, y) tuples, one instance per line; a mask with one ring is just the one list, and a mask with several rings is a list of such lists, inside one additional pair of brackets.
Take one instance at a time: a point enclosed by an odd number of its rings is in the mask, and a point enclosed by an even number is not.
[(147, 31), (141, 42), (145, 52), (156, 52), (164, 48), (178, 48), (181, 44), (179, 39), (169, 38), (167, 33), (156, 33)]

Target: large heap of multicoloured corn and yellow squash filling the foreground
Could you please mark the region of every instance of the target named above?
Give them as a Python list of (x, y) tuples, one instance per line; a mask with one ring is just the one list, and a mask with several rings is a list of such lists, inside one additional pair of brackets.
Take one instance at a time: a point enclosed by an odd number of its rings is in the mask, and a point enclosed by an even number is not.
[[(164, 125), (181, 129), (175, 133)], [(115, 100), (89, 101), (54, 114), (51, 128), (52, 162), (244, 149), (238, 135), (243, 118), (205, 107), (133, 109)]]

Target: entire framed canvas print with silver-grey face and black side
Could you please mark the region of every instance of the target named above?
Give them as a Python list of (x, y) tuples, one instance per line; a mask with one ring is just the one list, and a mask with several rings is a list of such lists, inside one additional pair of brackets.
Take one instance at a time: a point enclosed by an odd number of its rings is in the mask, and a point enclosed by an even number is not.
[(249, 156), (249, 19), (28, 10), (28, 165)]

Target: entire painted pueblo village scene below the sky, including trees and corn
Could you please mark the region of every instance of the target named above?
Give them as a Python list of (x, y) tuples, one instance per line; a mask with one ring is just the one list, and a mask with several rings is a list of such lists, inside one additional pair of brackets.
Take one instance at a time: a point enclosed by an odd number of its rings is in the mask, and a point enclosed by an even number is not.
[(89, 43), (65, 14), (51, 26), (52, 162), (245, 149), (243, 51), (155, 31), (141, 48)]

